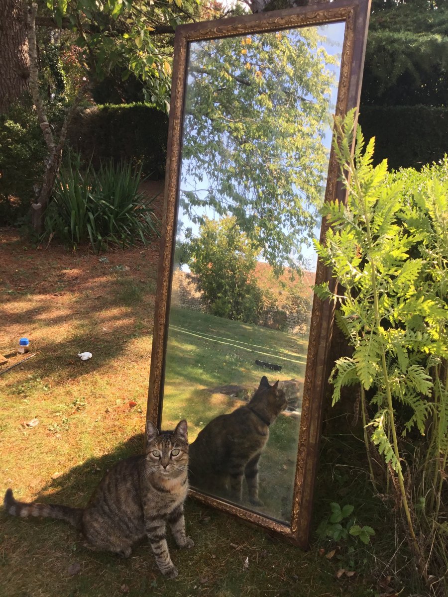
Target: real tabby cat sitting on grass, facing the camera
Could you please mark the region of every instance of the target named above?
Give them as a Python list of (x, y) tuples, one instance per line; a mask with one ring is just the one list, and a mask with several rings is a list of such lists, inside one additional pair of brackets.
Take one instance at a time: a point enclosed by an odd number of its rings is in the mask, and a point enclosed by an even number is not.
[(146, 454), (131, 456), (111, 469), (85, 508), (22, 503), (8, 489), (4, 506), (14, 516), (45, 516), (65, 520), (81, 530), (84, 546), (126, 558), (136, 541), (148, 536), (159, 570), (177, 576), (165, 538), (166, 523), (179, 547), (193, 547), (185, 534), (183, 502), (188, 492), (187, 423), (160, 433), (146, 424)]

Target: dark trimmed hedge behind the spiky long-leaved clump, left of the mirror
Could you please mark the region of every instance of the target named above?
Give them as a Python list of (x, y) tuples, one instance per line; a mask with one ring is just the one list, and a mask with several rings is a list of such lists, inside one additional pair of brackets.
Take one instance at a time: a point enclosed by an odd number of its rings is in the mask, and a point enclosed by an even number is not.
[(72, 149), (92, 159), (112, 158), (142, 164), (143, 176), (160, 179), (167, 159), (168, 116), (149, 104), (106, 104), (83, 110), (68, 134)]

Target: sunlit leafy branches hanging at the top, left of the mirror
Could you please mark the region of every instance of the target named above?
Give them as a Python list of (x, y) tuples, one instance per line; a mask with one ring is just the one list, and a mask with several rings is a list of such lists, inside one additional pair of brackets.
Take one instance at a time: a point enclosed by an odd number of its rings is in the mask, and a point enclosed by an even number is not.
[[(123, 80), (134, 76), (142, 82), (146, 101), (167, 109), (173, 33), (178, 24), (198, 19), (200, 9), (199, 0), (45, 0), (38, 14), (37, 24), (69, 32), (58, 43), (76, 48), (90, 81), (118, 69)], [(51, 44), (47, 48), (54, 71), (57, 52)]]

